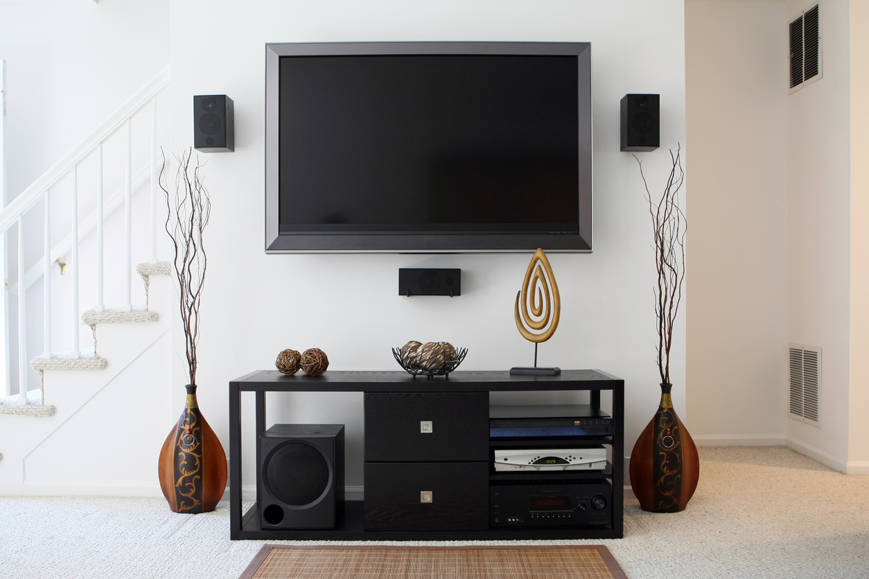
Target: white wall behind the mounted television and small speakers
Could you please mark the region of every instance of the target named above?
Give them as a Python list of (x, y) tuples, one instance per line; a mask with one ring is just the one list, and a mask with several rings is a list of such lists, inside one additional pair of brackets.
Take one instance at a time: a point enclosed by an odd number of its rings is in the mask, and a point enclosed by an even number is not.
[[(619, 152), (619, 101), (661, 95), (661, 143), (642, 154), (660, 191), (667, 147), (685, 142), (683, 3), (556, 1), (269, 2), (243, 10), (228, 0), (170, 5), (173, 142), (192, 140), (190, 96), (235, 101), (235, 153), (205, 169), (213, 213), (206, 232), (209, 273), (202, 298), (200, 406), (228, 444), (227, 383), (274, 367), (283, 348), (322, 347), (331, 370), (392, 370), (389, 347), (408, 339), (469, 348), (463, 368), (506, 370), (533, 346), (511, 313), (530, 253), (492, 255), (266, 255), (263, 251), (264, 43), (304, 41), (590, 41), (594, 70), (594, 253), (552, 254), (561, 288), (561, 326), (541, 346), (541, 363), (600, 368), (626, 380), (626, 454), (655, 411), (651, 225), (636, 161)], [(215, 42), (220, 39), (220, 42)], [(202, 47), (208, 47), (207, 51)], [(690, 221), (690, 215), (689, 215)], [(397, 269), (463, 270), (456, 299), (401, 298)], [(176, 350), (183, 351), (178, 336)], [(671, 372), (685, 416), (685, 329), (676, 328)], [(184, 383), (176, 363), (176, 409)], [(362, 484), (361, 396), (271, 397), (269, 423), (348, 424), (348, 484)], [(542, 398), (538, 398), (542, 399)], [(252, 396), (242, 400), (244, 484), (254, 479)], [(693, 427), (692, 418), (687, 425)], [(167, 424), (167, 428), (169, 424)]]

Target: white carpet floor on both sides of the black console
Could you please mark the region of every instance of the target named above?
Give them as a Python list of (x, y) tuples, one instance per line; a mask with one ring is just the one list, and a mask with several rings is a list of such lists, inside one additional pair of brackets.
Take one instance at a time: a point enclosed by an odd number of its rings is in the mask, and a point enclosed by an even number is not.
[[(229, 541), (229, 508), (177, 515), (163, 499), (0, 497), (0, 576), (238, 577), (262, 542)], [(625, 507), (604, 543), (631, 579), (869, 577), (869, 477), (784, 447), (700, 449), (687, 510)], [(447, 543), (441, 543), (447, 544)]]

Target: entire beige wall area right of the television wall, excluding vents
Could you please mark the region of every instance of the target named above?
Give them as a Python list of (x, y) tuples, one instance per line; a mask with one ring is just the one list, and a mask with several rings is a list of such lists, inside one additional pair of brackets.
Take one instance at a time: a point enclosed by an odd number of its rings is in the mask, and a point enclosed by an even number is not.
[[(821, 3), (823, 76), (788, 95), (812, 4), (686, 3), (688, 425), (869, 473), (869, 4)], [(788, 342), (823, 350), (821, 428), (786, 418)]]

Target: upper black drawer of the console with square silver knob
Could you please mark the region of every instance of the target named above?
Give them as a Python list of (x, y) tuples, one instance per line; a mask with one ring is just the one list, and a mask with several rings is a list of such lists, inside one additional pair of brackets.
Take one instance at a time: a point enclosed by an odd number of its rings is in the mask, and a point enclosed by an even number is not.
[(488, 392), (365, 392), (368, 462), (488, 462), (488, 434)]

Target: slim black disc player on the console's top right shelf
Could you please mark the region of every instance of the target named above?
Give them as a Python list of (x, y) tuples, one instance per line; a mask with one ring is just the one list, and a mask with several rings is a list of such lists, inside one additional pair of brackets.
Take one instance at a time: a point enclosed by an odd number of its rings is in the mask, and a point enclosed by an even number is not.
[(592, 405), (489, 406), (489, 436), (608, 437), (613, 417)]

